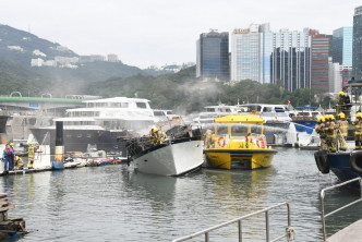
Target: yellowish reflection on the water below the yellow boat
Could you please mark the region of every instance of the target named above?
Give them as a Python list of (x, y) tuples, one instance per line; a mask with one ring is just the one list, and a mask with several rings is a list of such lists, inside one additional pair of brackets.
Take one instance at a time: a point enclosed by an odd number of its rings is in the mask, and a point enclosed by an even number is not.
[[(266, 207), (265, 196), (270, 185), (273, 167), (260, 170), (212, 170), (203, 171), (213, 185), (213, 198), (219, 210), (220, 221), (227, 221)], [(243, 222), (243, 239), (263, 240), (264, 217), (255, 216)], [(234, 223), (217, 232), (216, 238), (234, 238), (238, 225)]]

